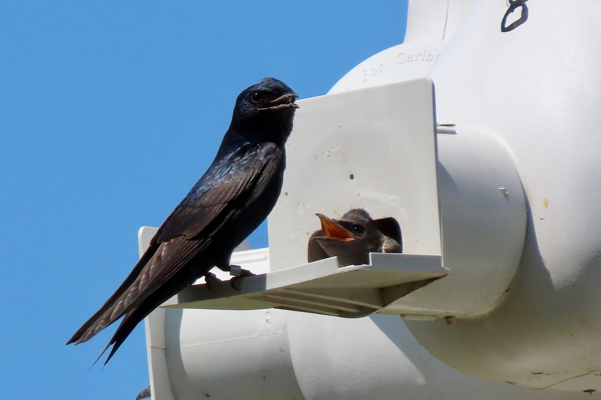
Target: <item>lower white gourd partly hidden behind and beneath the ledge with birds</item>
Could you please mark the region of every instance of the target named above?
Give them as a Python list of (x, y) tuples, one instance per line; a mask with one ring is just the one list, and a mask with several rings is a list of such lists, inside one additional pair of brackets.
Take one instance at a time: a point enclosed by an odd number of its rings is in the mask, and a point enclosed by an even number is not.
[[(141, 237), (150, 239), (154, 231), (143, 228)], [(269, 261), (267, 250), (234, 253), (233, 258), (260, 272)], [(166, 318), (150, 318), (156, 314)], [(418, 400), (579, 396), (520, 389), (454, 371), (424, 350), (401, 318), (391, 315), (351, 320), (278, 309), (159, 308), (150, 317), (154, 400), (393, 400), (399, 393)], [(156, 347), (151, 335), (163, 338), (162, 347)]]

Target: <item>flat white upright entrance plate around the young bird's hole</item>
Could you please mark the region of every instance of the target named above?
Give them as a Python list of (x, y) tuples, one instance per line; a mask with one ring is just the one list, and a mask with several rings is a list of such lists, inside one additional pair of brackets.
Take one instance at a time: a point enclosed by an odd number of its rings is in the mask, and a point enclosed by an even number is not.
[(316, 213), (354, 207), (395, 217), (404, 253), (441, 255), (432, 89), (419, 79), (299, 101), (267, 219), (272, 270), (307, 262)]

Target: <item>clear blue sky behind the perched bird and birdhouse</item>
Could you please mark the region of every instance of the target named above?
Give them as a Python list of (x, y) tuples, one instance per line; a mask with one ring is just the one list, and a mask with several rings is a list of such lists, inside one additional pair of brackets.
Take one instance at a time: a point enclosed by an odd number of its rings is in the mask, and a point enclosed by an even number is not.
[[(66, 347), (212, 161), (237, 94), (264, 76), (302, 97), (403, 41), (406, 1), (0, 4), (0, 393), (132, 399), (143, 324)], [(249, 238), (267, 246), (266, 226)], [(212, 360), (218, 362), (218, 360)]]

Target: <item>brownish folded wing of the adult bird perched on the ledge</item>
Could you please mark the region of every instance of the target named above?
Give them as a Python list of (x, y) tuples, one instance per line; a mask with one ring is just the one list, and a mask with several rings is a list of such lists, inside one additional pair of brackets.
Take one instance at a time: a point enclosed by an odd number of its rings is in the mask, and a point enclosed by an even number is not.
[[(257, 198), (284, 162), (275, 144), (253, 145), (209, 168), (151, 240), (153, 255), (138, 264), (70, 342), (85, 342), (139, 306), (145, 298), (206, 248), (213, 234)], [(213, 166), (212, 166), (213, 167)], [(146, 255), (146, 254), (145, 254)], [(142, 260), (141, 260), (142, 261)], [(142, 267), (142, 268), (139, 268)], [(138, 272), (136, 274), (136, 272)], [(135, 279), (132, 277), (135, 276)], [(111, 300), (109, 299), (109, 300)]]

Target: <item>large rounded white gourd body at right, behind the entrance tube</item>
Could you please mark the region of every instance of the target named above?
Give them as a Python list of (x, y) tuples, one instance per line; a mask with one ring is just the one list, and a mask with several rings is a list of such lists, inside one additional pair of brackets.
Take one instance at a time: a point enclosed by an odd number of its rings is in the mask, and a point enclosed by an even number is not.
[(469, 374), (598, 393), (601, 3), (525, 4), (526, 22), (503, 33), (506, 2), (475, 1), (429, 74), (439, 120), (486, 127), (513, 154), (528, 201), (520, 266), (486, 317), (407, 326)]

